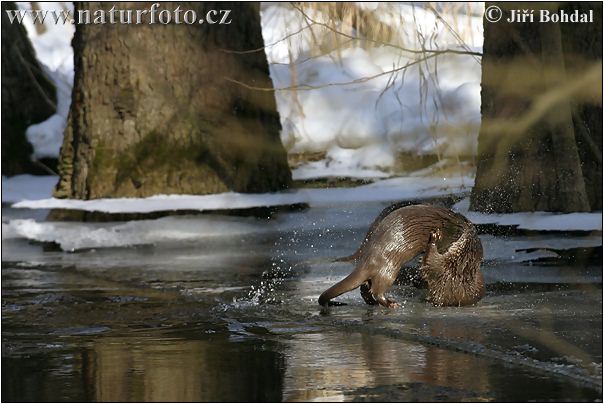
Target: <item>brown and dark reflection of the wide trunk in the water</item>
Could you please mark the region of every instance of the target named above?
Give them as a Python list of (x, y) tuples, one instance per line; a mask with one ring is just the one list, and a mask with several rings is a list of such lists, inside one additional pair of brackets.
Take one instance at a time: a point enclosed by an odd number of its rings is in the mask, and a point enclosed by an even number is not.
[(238, 348), (225, 340), (106, 338), (90, 351), (86, 377), (95, 401), (280, 400), (275, 352)]

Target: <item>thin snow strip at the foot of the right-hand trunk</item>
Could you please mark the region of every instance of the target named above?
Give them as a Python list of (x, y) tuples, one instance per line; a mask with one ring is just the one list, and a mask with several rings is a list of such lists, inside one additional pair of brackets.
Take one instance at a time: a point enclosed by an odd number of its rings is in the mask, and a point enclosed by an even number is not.
[(497, 224), (518, 226), (525, 230), (581, 230), (602, 231), (602, 212), (589, 213), (552, 213), (517, 212), (505, 214), (485, 214), (469, 211), (470, 199), (458, 202), (453, 209), (462, 213), (475, 224)]

